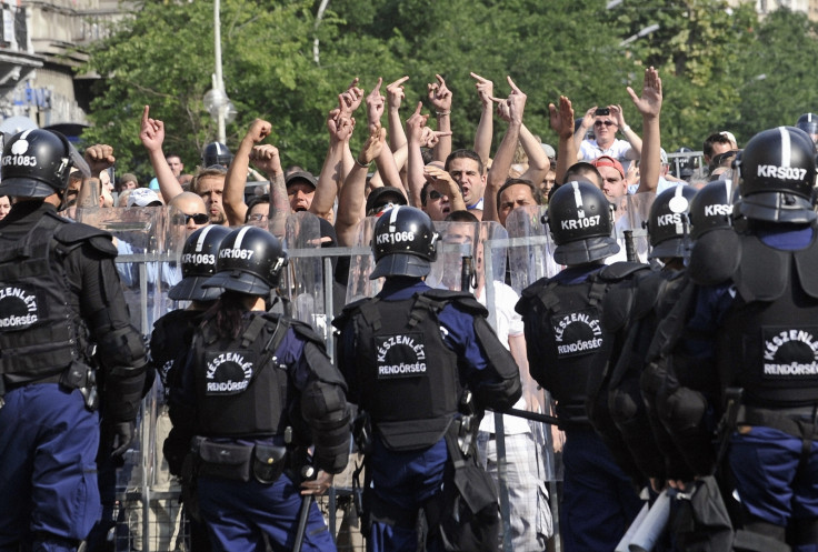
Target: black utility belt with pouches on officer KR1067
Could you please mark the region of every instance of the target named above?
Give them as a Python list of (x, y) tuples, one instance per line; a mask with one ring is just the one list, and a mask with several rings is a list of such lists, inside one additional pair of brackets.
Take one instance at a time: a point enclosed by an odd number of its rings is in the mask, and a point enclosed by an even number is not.
[(298, 454), (286, 444), (219, 443), (205, 436), (194, 436), (191, 452), (196, 473), (247, 483), (250, 478), (272, 484), (285, 470), (297, 468)]

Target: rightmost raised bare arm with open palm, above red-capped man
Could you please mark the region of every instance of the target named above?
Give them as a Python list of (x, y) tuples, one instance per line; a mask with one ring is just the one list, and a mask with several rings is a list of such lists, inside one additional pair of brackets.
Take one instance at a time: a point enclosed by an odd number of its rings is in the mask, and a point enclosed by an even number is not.
[(639, 162), (639, 188), (637, 192), (656, 192), (661, 173), (661, 130), (659, 114), (661, 113), (661, 79), (652, 67), (645, 70), (642, 96), (639, 98), (634, 89), (628, 87), (628, 94), (634, 106), (642, 114), (641, 161)]

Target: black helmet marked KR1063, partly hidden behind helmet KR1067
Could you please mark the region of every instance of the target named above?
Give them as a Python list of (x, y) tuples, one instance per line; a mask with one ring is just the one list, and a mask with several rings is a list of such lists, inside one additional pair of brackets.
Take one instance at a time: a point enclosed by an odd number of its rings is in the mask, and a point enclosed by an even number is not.
[(219, 299), (219, 288), (202, 284), (216, 273), (219, 245), (230, 234), (230, 229), (218, 224), (200, 228), (191, 233), (182, 249), (182, 280), (168, 291), (174, 301), (213, 301)]

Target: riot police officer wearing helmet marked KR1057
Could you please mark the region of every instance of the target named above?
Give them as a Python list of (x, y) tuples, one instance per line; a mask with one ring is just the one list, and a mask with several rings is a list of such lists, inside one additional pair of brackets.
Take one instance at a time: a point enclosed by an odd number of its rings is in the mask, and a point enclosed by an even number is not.
[(548, 227), (553, 259), (566, 269), (522, 291), (522, 314), (531, 375), (557, 401), (565, 430), (565, 486), (560, 516), (563, 550), (612, 551), (641, 506), (631, 481), (593, 431), (586, 400), (596, 393), (611, 349), (601, 327), (601, 302), (614, 283), (648, 270), (618, 262), (611, 238), (612, 213), (602, 191), (589, 182), (568, 182), (551, 197)]

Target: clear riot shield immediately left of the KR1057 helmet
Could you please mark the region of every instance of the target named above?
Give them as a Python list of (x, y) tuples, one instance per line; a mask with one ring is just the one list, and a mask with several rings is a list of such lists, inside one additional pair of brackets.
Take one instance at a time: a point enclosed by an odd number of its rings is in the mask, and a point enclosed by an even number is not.
[(512, 245), (508, 249), (509, 282), (519, 294), (541, 278), (551, 278), (562, 270), (553, 261), (556, 245), (542, 223), (547, 207), (518, 207), (506, 219), (506, 230)]

